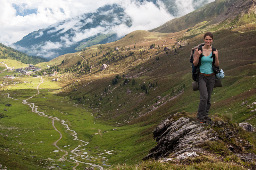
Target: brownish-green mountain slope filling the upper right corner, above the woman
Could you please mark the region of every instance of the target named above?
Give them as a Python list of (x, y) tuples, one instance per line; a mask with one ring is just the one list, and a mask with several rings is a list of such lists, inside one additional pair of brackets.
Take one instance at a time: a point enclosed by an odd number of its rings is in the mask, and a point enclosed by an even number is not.
[(211, 25), (212, 31), (237, 27), (256, 21), (255, 5), (254, 0), (216, 0), (149, 31), (173, 33), (192, 28), (203, 21), (208, 21), (203, 27)]

